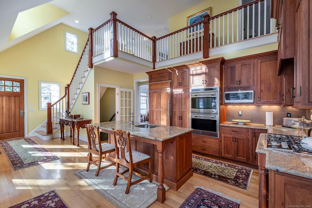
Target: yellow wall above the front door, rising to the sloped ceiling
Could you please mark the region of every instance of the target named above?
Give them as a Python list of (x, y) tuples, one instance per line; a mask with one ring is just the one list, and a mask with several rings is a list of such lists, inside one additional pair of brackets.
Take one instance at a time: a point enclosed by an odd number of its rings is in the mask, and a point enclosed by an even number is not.
[[(78, 54), (65, 51), (64, 32), (78, 35)], [(46, 120), (46, 111), (39, 111), (39, 81), (71, 81), (88, 34), (64, 24), (56, 25), (0, 53), (0, 76), (27, 78), (28, 130), (32, 132)]]

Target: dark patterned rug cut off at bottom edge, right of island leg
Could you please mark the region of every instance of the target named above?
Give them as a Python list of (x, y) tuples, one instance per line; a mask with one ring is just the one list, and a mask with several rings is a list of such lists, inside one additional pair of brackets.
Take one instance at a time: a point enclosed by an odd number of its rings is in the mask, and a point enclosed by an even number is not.
[(196, 188), (180, 208), (239, 208), (240, 200), (213, 190)]

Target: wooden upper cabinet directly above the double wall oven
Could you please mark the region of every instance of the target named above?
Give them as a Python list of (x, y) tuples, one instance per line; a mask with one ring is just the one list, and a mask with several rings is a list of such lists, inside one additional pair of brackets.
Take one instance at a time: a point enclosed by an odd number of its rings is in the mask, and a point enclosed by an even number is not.
[(223, 81), (223, 63), (225, 59), (215, 58), (188, 65), (191, 71), (191, 87), (219, 87)]

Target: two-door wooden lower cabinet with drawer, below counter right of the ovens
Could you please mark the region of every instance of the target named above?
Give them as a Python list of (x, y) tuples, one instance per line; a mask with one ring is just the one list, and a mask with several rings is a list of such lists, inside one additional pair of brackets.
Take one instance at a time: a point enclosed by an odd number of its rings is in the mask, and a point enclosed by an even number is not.
[(234, 128), (221, 126), (221, 152), (222, 157), (241, 162), (249, 162), (248, 128)]

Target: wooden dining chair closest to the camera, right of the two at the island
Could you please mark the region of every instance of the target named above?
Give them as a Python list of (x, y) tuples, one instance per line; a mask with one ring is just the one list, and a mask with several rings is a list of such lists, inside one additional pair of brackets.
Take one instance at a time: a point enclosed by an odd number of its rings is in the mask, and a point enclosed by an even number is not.
[[(127, 181), (127, 188), (126, 188), (125, 193), (128, 194), (130, 187), (132, 185), (135, 185), (146, 179), (149, 179), (151, 183), (152, 182), (152, 157), (142, 152), (131, 150), (130, 132), (113, 129), (113, 135), (114, 135), (114, 141), (115, 141), (115, 147), (116, 147), (116, 171), (115, 171), (115, 179), (114, 179), (113, 185), (115, 186), (117, 184), (118, 177), (123, 178), (124, 180)], [(149, 174), (146, 176), (134, 170), (135, 167), (144, 163), (149, 163)], [(125, 167), (126, 170), (123, 170), (123, 171), (120, 170), (121, 172), (119, 172), (120, 165)], [(125, 176), (125, 173), (127, 172), (129, 172), (128, 177)], [(131, 182), (132, 174), (139, 176), (140, 179), (134, 182)]]

